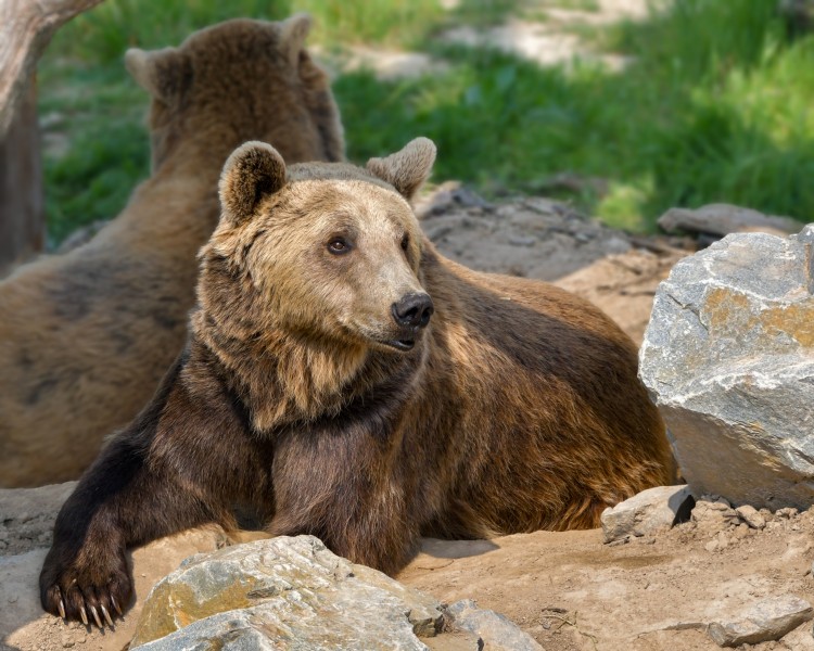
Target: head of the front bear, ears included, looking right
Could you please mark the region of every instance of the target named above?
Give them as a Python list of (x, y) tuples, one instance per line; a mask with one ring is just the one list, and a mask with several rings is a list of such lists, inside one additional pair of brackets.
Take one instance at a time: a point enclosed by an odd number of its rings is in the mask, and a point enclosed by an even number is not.
[(243, 340), (275, 332), (316, 347), (411, 350), (433, 304), (409, 201), (434, 161), (425, 138), (366, 168), (287, 167), (272, 146), (243, 144), (224, 168), (220, 222), (201, 253), (209, 322)]

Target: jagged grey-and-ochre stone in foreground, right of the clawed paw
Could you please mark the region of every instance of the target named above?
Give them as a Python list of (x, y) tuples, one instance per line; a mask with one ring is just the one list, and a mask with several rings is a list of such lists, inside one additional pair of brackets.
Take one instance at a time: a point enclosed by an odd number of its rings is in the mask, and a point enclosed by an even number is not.
[(433, 598), (355, 565), (313, 536), (199, 554), (157, 584), (130, 648), (427, 649)]

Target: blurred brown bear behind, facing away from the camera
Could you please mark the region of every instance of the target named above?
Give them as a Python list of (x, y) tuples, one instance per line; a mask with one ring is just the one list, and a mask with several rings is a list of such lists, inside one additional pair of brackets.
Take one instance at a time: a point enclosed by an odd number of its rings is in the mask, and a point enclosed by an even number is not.
[(153, 395), (183, 347), (234, 148), (262, 138), (287, 162), (344, 158), (308, 28), (305, 15), (237, 20), (127, 53), (152, 94), (153, 174), (91, 242), (0, 283), (0, 486), (79, 476)]

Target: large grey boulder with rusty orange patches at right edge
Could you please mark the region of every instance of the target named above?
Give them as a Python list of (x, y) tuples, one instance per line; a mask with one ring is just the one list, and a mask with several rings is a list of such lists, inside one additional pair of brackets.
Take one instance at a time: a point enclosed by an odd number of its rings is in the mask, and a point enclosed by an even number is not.
[(728, 235), (659, 286), (639, 372), (696, 497), (814, 502), (813, 241)]

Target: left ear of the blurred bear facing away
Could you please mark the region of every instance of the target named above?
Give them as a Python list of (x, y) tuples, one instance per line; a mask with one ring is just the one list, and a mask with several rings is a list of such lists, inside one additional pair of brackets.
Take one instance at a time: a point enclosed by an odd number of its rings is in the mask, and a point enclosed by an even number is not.
[(192, 79), (189, 58), (176, 48), (151, 52), (130, 48), (125, 52), (125, 67), (141, 88), (166, 104), (179, 98)]

